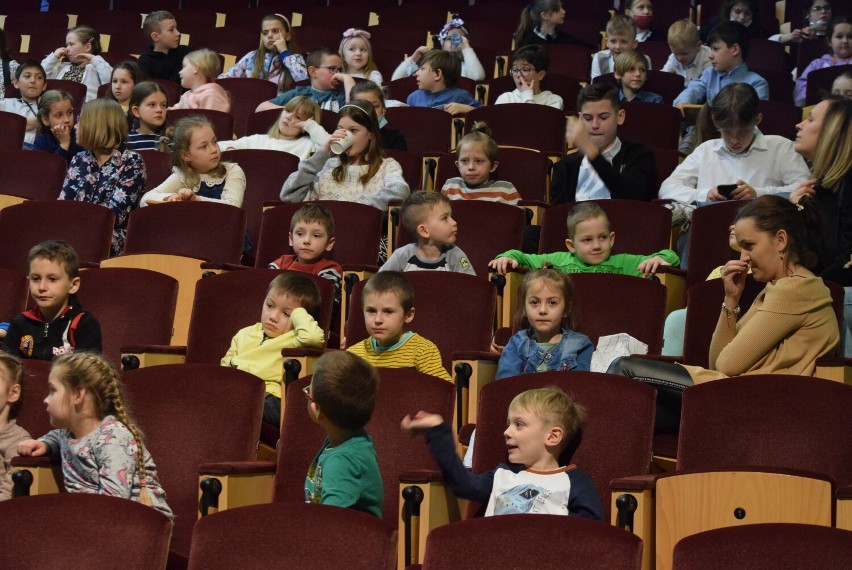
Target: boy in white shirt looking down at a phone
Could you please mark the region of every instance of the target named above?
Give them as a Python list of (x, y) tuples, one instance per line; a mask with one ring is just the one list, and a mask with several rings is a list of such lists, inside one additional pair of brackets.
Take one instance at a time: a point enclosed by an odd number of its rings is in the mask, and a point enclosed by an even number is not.
[[(663, 182), (660, 198), (681, 204), (748, 200), (792, 192), (810, 178), (792, 141), (757, 129), (762, 115), (750, 85), (724, 87), (713, 100), (710, 114), (722, 138), (702, 143), (687, 156)], [(723, 195), (719, 185), (727, 184), (736, 184), (736, 188)]]

